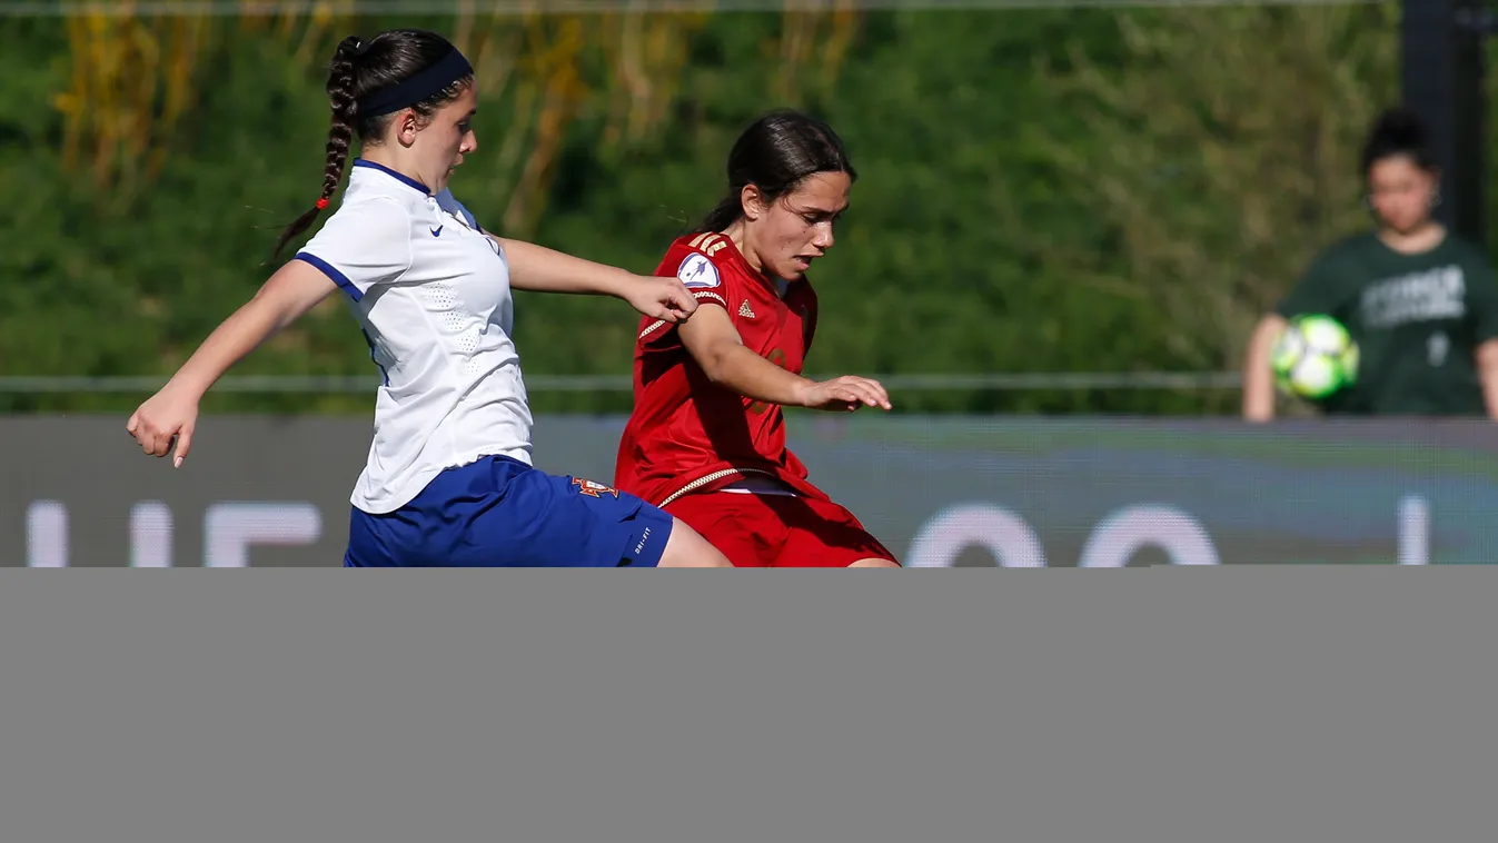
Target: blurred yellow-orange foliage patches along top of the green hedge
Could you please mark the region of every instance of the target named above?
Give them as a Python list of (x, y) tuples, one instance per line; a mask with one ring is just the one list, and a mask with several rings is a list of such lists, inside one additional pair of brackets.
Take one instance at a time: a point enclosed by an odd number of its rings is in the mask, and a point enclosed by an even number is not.
[[(130, 189), (159, 172), (172, 132), (198, 94), (198, 58), (213, 27), (240, 34), (274, 34), (309, 72), (349, 31), (358, 31), (352, 0), (267, 12), (246, 0), (228, 22), (205, 16), (138, 15), (136, 0), (109, 15), (67, 21), (73, 72), (55, 105), (66, 115), (66, 162), (85, 166), (100, 187)], [(691, 36), (710, 13), (650, 13), (637, 9), (592, 15), (530, 10), (481, 10), (485, 3), (457, 0), (448, 34), (470, 57), (481, 99), (509, 109), (499, 147), (503, 184), (490, 195), (509, 196), (508, 231), (532, 228), (544, 211), (568, 132), (586, 106), (607, 114), (608, 151), (650, 136), (680, 94)], [(779, 43), (765, 45), (776, 61), (773, 91), (797, 99), (806, 85), (825, 85), (837, 73), (857, 13), (851, 0), (828, 12), (795, 12), (788, 3)], [(812, 70), (807, 75), (806, 70)]]

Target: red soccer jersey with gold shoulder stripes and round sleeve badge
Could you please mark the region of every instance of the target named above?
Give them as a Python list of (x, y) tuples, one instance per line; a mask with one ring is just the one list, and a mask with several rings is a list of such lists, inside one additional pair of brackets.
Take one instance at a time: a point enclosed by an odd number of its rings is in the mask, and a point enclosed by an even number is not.
[[(749, 350), (800, 374), (816, 328), (816, 293), (809, 281), (791, 283), (782, 296), (721, 234), (677, 240), (656, 274), (682, 279), (701, 307), (728, 311)], [(619, 442), (614, 484), (665, 506), (755, 475), (827, 497), (786, 449), (779, 406), (715, 385), (682, 346), (676, 326), (643, 317), (635, 341), (635, 410)]]

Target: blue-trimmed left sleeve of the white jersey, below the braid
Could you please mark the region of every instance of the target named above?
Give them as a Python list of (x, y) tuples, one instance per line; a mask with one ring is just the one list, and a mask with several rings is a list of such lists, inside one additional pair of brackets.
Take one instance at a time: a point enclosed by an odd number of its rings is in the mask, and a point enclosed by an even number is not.
[(410, 214), (379, 199), (345, 205), (297, 253), (354, 301), (410, 268)]

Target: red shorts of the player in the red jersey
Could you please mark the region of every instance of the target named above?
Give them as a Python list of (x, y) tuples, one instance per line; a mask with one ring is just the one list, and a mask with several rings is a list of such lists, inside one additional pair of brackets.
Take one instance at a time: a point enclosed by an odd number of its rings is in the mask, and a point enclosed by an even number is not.
[(736, 567), (848, 567), (897, 562), (863, 524), (830, 500), (710, 491), (673, 500), (667, 512), (697, 530)]

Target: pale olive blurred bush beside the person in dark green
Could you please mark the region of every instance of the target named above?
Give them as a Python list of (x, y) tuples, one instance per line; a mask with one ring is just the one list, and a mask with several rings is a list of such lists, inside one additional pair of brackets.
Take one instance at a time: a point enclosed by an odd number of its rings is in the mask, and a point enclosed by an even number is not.
[(1156, 365), (1236, 368), (1311, 258), (1366, 225), (1357, 156), (1398, 102), (1398, 3), (1121, 13), (1122, 70), (1073, 42), (1071, 67), (1043, 75), (1086, 103), (1098, 142), (1041, 147), (1124, 264), (1056, 258), (1147, 302), (1168, 349)]

